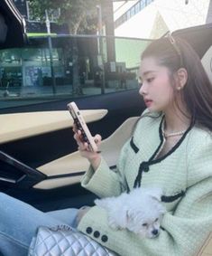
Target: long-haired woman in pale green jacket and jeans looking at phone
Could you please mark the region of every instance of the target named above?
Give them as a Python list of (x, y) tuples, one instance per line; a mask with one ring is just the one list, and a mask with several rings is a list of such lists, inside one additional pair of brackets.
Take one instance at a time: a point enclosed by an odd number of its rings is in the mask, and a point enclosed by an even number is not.
[[(212, 229), (212, 87), (198, 55), (179, 38), (162, 38), (143, 52), (140, 94), (147, 110), (124, 144), (111, 171), (98, 153), (75, 139), (91, 166), (82, 185), (100, 197), (137, 186), (160, 186), (167, 213), (160, 235), (140, 239), (108, 227), (106, 212), (94, 206), (41, 213), (0, 194), (0, 251), (26, 255), (36, 227), (69, 223), (121, 256), (191, 256)], [(101, 142), (96, 136), (97, 146)], [(14, 211), (19, 214), (17, 216)], [(24, 216), (24, 220), (22, 219)], [(21, 227), (21, 229), (20, 229)]]

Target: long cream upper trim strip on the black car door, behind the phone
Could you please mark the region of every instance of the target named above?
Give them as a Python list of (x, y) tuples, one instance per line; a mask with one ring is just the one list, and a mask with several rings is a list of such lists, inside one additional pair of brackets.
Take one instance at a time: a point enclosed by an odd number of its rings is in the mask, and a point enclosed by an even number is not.
[[(106, 109), (82, 110), (87, 123), (104, 118), (106, 113)], [(3, 114), (0, 123), (0, 143), (5, 143), (72, 127), (73, 119), (68, 110), (60, 110)]]

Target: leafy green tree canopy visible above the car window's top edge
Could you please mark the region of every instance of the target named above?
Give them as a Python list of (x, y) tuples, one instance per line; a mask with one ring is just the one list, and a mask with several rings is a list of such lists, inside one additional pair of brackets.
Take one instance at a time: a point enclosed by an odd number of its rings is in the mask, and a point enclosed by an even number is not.
[(30, 0), (32, 20), (45, 20), (45, 10), (51, 17), (60, 10), (56, 21), (68, 24), (69, 33), (97, 31), (97, 4), (100, 0)]

